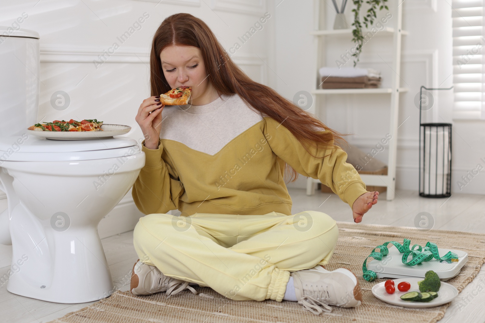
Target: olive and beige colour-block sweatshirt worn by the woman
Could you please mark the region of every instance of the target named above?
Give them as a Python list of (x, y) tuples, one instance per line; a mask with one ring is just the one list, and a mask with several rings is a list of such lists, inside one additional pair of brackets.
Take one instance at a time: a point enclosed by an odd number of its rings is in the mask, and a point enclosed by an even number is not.
[[(308, 149), (316, 156), (331, 152)], [(165, 106), (158, 149), (142, 142), (142, 151), (146, 162), (132, 197), (146, 215), (175, 209), (184, 216), (292, 215), (285, 162), (319, 179), (351, 208), (367, 192), (342, 149), (313, 157), (284, 122), (255, 112), (237, 93), (202, 106)]]

